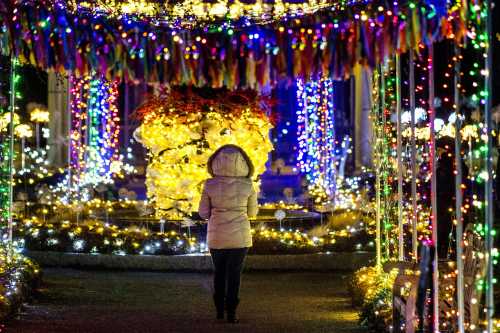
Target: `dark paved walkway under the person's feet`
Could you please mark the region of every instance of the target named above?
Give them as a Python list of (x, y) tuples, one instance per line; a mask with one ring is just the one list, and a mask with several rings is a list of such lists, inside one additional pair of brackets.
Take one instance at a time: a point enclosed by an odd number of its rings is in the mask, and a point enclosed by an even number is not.
[(336, 274), (245, 274), (237, 325), (214, 319), (209, 274), (46, 269), (44, 281), (6, 332), (362, 332)]

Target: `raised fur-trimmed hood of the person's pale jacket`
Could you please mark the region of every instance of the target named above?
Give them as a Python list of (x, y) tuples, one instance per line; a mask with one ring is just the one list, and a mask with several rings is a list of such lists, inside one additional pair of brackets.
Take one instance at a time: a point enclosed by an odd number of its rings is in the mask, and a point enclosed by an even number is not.
[(252, 161), (243, 149), (225, 145), (215, 151), (208, 160), (208, 172), (212, 177), (248, 177), (253, 175)]

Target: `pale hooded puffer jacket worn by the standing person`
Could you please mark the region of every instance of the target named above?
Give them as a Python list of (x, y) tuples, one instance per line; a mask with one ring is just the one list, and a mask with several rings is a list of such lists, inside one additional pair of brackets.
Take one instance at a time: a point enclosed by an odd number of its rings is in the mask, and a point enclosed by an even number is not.
[(253, 165), (246, 153), (234, 145), (219, 148), (208, 161), (213, 178), (205, 182), (198, 210), (208, 219), (210, 249), (252, 246), (249, 217), (257, 215), (257, 193), (251, 175)]

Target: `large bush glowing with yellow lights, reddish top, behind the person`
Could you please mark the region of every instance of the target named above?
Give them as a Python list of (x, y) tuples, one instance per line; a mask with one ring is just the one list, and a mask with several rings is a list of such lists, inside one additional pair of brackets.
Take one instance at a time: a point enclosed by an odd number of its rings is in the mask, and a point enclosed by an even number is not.
[(206, 163), (222, 145), (242, 147), (255, 177), (265, 171), (272, 125), (263, 105), (249, 92), (218, 91), (206, 98), (176, 89), (137, 110), (142, 124), (135, 138), (149, 150), (146, 186), (159, 216), (179, 218), (197, 209), (209, 178)]

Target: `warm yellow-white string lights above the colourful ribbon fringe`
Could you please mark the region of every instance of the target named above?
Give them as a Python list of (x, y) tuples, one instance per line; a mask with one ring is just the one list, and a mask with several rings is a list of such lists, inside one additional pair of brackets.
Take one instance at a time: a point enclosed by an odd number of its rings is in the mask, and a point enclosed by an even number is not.
[[(194, 27), (195, 25), (221, 23), (221, 25), (239, 25), (243, 22), (266, 23), (282, 19), (293, 19), (313, 14), (320, 10), (331, 12), (344, 11), (347, 8), (355, 8), (370, 4), (371, 0), (305, 0), (298, 2), (287, 2), (277, 0), (273, 3), (257, 1), (247, 3), (242, 1), (219, 0), (207, 3), (200, 0), (184, 1), (182, 4), (160, 4), (148, 0), (98, 0), (98, 1), (71, 1), (69, 4), (75, 10), (88, 10), (94, 13), (106, 13), (111, 17), (127, 16), (129, 19), (150, 19), (162, 24), (182, 25)], [(367, 20), (365, 11), (361, 11), (358, 19)], [(243, 21), (243, 22), (241, 22)], [(211, 24), (212, 23), (212, 24)]]

